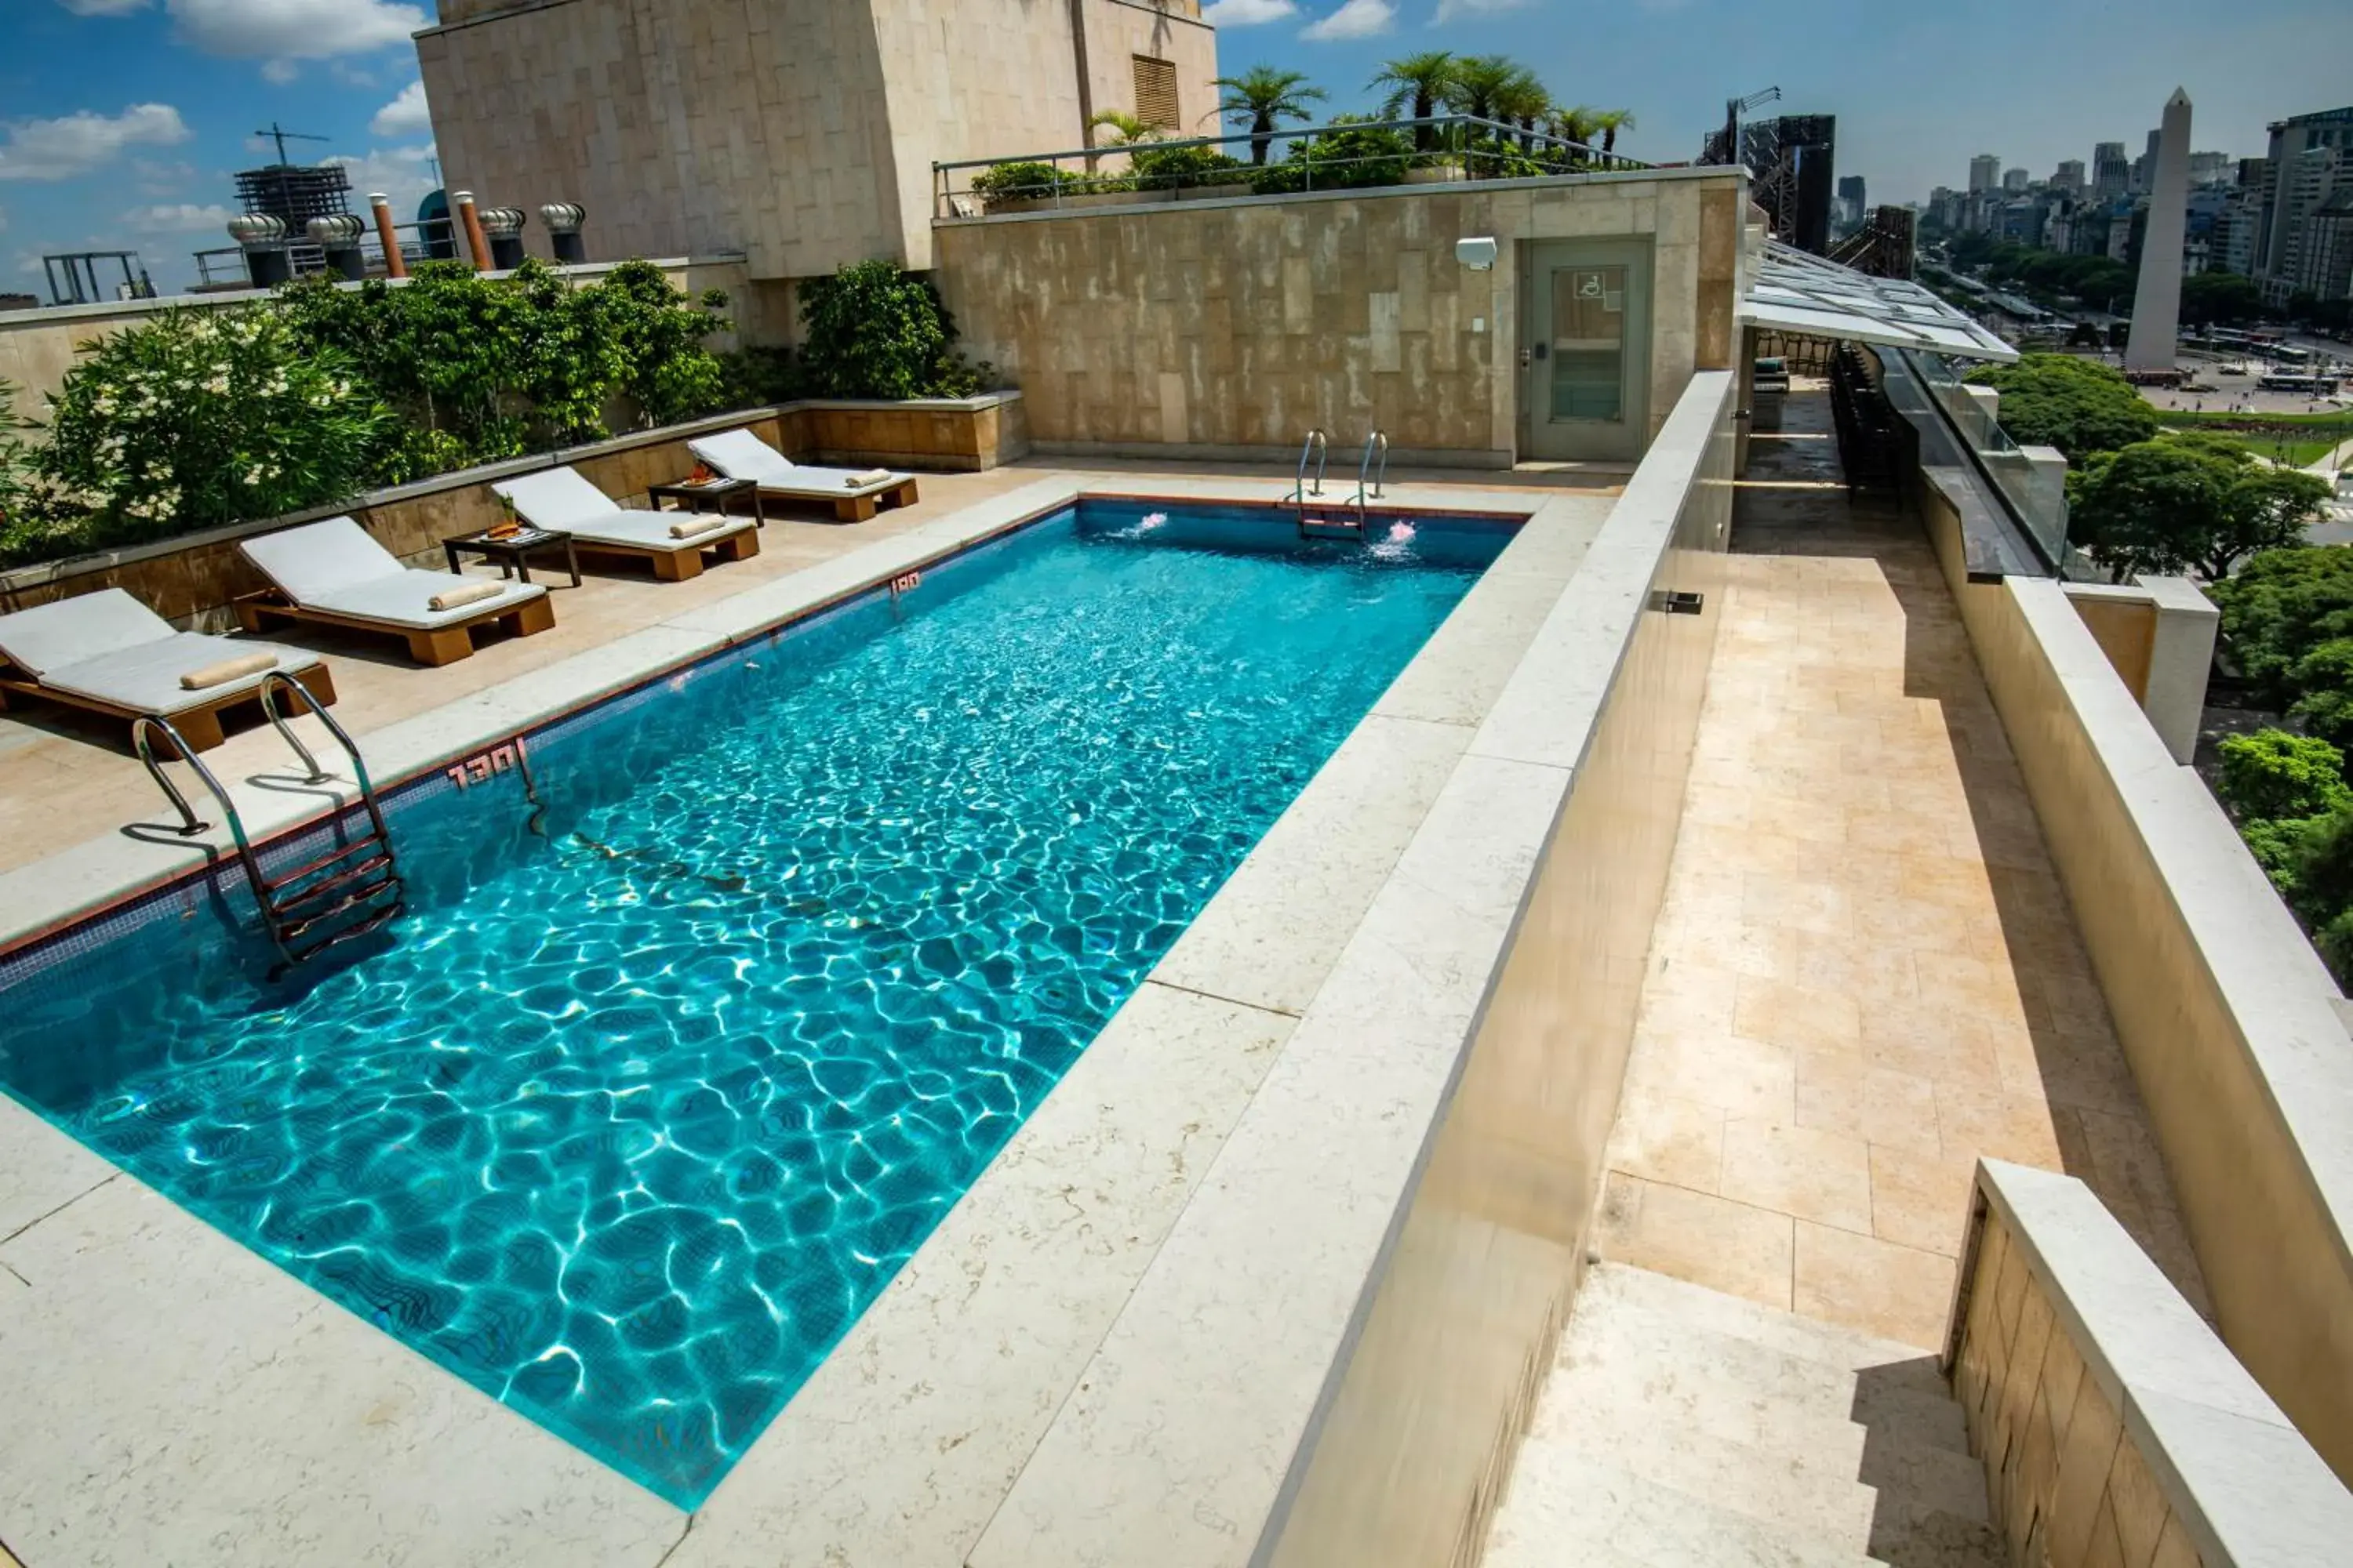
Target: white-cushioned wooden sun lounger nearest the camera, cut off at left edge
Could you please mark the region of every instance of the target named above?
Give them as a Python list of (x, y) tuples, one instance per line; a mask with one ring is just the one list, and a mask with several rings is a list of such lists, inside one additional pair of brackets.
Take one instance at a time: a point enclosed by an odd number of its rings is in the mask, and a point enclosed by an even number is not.
[[(14, 693), (118, 719), (162, 717), (200, 752), (221, 743), (221, 710), (256, 701), (273, 670), (296, 675), (320, 703), (334, 701), (318, 654), (176, 632), (120, 588), (0, 616), (0, 708)], [(306, 710), (287, 693), (287, 712)]]

